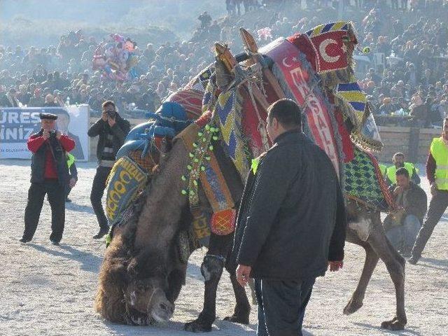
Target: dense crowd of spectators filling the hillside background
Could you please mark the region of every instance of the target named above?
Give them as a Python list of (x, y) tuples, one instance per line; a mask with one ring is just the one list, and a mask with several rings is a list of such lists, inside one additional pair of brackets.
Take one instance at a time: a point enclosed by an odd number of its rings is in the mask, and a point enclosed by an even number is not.
[[(124, 82), (92, 71), (98, 41), (80, 30), (61, 36), (57, 46), (0, 45), (0, 106), (90, 104), (99, 110), (104, 100), (112, 99), (127, 113), (155, 111), (165, 97), (213, 62), (214, 41), (241, 51), (238, 28), (248, 18), (255, 23), (246, 28), (262, 44), (325, 22), (306, 8), (332, 8), (339, 14), (344, 10), (342, 18), (363, 13), (354, 20), (360, 45), (355, 58), (359, 64), (367, 62), (358, 79), (380, 123), (386, 120), (381, 116), (398, 116), (400, 123), (439, 125), (448, 113), (448, 1), (340, 1), (225, 0), (227, 17), (214, 20), (207, 12), (200, 14), (189, 41), (139, 45), (139, 76)], [(271, 15), (263, 16), (267, 11)], [(260, 35), (266, 27), (270, 36)], [(370, 52), (360, 51), (366, 47)]]

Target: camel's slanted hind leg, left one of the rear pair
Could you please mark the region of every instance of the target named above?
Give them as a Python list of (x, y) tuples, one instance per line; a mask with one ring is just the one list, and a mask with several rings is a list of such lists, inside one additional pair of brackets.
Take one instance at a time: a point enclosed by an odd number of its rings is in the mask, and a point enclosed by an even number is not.
[(351, 299), (344, 308), (344, 314), (346, 315), (353, 314), (355, 311), (360, 309), (360, 307), (363, 307), (365, 290), (379, 260), (379, 256), (377, 255), (377, 253), (375, 253), (375, 251), (369, 244), (360, 242), (358, 243), (358, 245), (362, 246), (365, 250), (365, 262), (363, 273), (361, 274), (361, 277), (358, 281), (358, 286), (356, 286), (353, 295), (351, 295)]

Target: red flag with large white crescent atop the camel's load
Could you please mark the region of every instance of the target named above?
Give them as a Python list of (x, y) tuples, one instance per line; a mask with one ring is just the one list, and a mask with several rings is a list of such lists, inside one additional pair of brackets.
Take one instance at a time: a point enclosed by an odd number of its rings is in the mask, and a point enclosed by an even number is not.
[(329, 31), (318, 36), (311, 37), (311, 43), (317, 52), (317, 72), (345, 69), (347, 61), (347, 47), (343, 37), (346, 31)]

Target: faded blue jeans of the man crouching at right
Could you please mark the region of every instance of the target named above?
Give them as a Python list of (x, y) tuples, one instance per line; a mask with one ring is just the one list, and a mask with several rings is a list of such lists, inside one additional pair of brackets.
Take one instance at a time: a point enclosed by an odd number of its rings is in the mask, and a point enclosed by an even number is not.
[(402, 225), (394, 226), (386, 232), (386, 236), (391, 241), (395, 250), (410, 252), (414, 246), (415, 239), (419, 233), (421, 223), (414, 215), (407, 215)]

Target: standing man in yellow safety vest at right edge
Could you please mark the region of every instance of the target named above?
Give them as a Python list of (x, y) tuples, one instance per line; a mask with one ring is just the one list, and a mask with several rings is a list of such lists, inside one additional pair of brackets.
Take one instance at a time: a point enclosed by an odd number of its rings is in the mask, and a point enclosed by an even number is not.
[(443, 120), (442, 137), (434, 138), (430, 146), (426, 161), (426, 177), (430, 182), (432, 197), (426, 220), (421, 226), (409, 258), (409, 262), (414, 265), (421, 258), (423, 248), (431, 237), (435, 225), (439, 223), (448, 207), (448, 118)]

